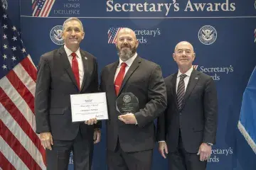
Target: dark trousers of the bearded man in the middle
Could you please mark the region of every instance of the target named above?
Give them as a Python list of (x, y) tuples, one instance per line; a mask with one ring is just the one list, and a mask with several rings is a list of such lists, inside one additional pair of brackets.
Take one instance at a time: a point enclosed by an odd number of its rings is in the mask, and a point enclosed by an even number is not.
[(107, 167), (109, 170), (150, 170), (153, 149), (140, 152), (124, 152), (120, 147), (107, 151)]

